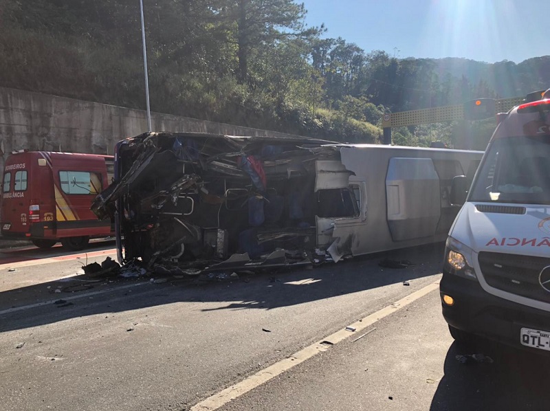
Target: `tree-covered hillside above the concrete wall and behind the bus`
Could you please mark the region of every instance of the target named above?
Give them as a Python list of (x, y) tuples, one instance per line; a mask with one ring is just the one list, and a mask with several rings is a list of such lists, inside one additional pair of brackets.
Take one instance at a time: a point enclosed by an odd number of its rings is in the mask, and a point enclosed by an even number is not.
[[(151, 110), (346, 142), (384, 113), (550, 87), (516, 64), (392, 57), (307, 27), (292, 0), (143, 0)], [(137, 0), (0, 0), (0, 86), (145, 108)], [(397, 144), (483, 148), (494, 122), (393, 131)], [(465, 138), (467, 135), (467, 138)]]

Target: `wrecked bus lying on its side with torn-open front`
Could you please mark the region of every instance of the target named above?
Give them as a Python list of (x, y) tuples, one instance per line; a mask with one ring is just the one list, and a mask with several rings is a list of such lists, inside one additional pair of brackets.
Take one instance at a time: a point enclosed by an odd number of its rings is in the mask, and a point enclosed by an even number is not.
[(482, 152), (308, 138), (144, 133), (92, 206), (121, 263), (184, 274), (338, 260), (444, 241), (452, 179)]

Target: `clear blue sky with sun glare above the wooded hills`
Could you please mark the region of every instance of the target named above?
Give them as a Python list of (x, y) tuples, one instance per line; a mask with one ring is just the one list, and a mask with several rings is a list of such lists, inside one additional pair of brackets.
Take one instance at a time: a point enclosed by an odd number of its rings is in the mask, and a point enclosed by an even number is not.
[(550, 55), (550, 0), (296, 0), (366, 53), (520, 63)]

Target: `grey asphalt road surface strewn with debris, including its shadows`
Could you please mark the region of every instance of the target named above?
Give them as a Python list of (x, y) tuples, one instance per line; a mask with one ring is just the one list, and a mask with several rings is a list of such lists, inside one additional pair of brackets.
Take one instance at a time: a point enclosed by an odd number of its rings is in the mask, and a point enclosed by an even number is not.
[(1, 410), (550, 408), (545, 357), (487, 343), (492, 362), (457, 361), (472, 352), (441, 317), (443, 245), (236, 277), (84, 275), (110, 247), (0, 254)]

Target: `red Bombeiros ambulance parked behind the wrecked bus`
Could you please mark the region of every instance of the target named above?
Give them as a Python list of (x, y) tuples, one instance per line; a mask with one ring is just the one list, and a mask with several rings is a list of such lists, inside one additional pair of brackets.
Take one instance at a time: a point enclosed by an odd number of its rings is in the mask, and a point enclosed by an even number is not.
[(90, 206), (112, 177), (109, 155), (13, 153), (3, 172), (2, 236), (41, 248), (61, 241), (70, 250), (85, 248), (90, 238), (109, 236), (111, 222), (98, 220)]

